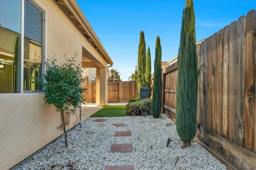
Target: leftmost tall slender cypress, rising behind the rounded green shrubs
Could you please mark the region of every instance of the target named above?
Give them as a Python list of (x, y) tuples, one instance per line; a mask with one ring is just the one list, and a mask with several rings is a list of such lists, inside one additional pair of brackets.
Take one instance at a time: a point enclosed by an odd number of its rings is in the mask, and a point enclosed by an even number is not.
[(146, 42), (144, 31), (140, 31), (140, 43), (138, 49), (138, 91), (140, 87), (146, 87), (145, 85), (145, 73), (146, 73)]

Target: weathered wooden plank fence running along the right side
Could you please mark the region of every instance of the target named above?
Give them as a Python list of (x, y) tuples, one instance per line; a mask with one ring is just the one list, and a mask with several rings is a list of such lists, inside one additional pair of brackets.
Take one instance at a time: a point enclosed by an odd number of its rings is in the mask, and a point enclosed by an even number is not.
[[(198, 131), (196, 142), (229, 169), (256, 169), (256, 11), (196, 47)], [(175, 121), (177, 64), (164, 73), (165, 113)]]

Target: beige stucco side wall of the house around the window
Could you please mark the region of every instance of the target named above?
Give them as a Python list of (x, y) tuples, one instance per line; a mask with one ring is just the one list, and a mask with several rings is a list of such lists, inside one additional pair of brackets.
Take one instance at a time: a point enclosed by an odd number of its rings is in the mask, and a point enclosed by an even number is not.
[[(46, 57), (56, 55), (58, 61), (74, 57), (82, 61), (82, 47), (107, 67), (96, 49), (84, 38), (54, 0), (38, 0), (46, 10)], [(102, 76), (101, 76), (102, 77)], [(105, 85), (104, 85), (105, 86)], [(105, 92), (104, 92), (105, 93)], [(63, 134), (60, 115), (54, 107), (44, 103), (43, 93), (0, 94), (0, 169), (18, 164), (34, 152)], [(79, 116), (79, 109), (76, 111)], [(76, 117), (71, 115), (70, 128)], [(79, 120), (76, 124), (79, 123)], [(64, 143), (63, 143), (63, 147)]]

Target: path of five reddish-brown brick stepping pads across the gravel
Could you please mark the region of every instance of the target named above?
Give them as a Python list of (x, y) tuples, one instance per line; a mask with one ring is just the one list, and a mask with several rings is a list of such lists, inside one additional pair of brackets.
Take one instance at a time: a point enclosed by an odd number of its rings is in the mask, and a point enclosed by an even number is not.
[[(107, 119), (96, 119), (94, 122), (104, 122)], [(128, 126), (124, 123), (111, 124), (115, 127)], [(132, 136), (131, 131), (118, 131), (115, 136)], [(132, 152), (132, 144), (112, 144), (110, 152)], [(105, 170), (133, 170), (133, 166), (105, 166)]]

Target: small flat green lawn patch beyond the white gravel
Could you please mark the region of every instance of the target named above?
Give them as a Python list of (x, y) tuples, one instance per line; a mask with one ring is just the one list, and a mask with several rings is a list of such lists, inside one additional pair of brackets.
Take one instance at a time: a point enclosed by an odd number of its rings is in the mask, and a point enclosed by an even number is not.
[(91, 117), (120, 117), (126, 116), (126, 108), (125, 105), (117, 105), (117, 106), (105, 106)]

